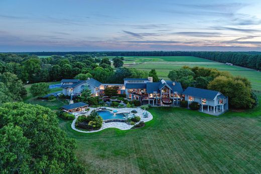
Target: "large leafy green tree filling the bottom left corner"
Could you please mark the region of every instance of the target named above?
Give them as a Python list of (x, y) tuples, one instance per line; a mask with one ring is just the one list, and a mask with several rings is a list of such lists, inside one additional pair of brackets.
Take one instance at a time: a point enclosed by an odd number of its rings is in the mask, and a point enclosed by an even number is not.
[(75, 140), (67, 138), (49, 108), (25, 103), (0, 106), (0, 173), (85, 173)]

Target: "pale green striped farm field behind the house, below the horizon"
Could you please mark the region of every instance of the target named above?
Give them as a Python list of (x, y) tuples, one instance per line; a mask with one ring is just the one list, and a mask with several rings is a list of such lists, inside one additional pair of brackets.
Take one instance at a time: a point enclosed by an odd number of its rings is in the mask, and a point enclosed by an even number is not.
[[(182, 66), (199, 66), (216, 68), (220, 71), (228, 71), (232, 75), (240, 75), (249, 79), (252, 89), (261, 90), (261, 72), (239, 66), (228, 66), (224, 63), (211, 61), (192, 56), (166, 56), (166, 57), (124, 57), (124, 66), (150, 71), (156, 69), (160, 78), (168, 78), (169, 71), (181, 68)], [(155, 61), (156, 60), (156, 61)], [(134, 64), (135, 62), (135, 64)]]

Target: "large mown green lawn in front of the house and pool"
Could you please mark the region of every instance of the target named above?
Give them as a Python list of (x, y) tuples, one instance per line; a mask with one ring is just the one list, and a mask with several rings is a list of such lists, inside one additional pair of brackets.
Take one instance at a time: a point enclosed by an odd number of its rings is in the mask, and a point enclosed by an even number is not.
[[(261, 94), (258, 95), (259, 101)], [(79, 133), (77, 157), (89, 173), (260, 173), (261, 106), (219, 117), (184, 108), (152, 108), (140, 129)]]

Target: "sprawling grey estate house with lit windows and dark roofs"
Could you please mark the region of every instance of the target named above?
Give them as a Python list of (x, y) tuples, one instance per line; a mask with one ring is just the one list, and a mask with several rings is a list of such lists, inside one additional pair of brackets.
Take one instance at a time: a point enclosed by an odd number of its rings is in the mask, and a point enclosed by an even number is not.
[(228, 97), (218, 91), (188, 87), (183, 90), (181, 83), (161, 79), (153, 82), (148, 78), (125, 78), (123, 84), (103, 84), (93, 78), (87, 80), (63, 79), (61, 81), (63, 94), (67, 96), (80, 95), (81, 91), (88, 88), (93, 96), (102, 96), (107, 87), (116, 87), (118, 94), (125, 94), (129, 100), (139, 100), (142, 104), (152, 106), (179, 106), (181, 100), (197, 102), (200, 110), (213, 113), (224, 112), (228, 109)]

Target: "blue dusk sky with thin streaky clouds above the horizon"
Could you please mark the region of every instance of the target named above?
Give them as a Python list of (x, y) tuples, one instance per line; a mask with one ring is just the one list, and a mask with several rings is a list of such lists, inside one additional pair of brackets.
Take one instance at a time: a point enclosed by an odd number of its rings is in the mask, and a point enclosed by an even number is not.
[(0, 52), (261, 51), (261, 1), (1, 0)]

